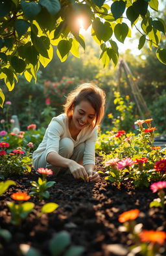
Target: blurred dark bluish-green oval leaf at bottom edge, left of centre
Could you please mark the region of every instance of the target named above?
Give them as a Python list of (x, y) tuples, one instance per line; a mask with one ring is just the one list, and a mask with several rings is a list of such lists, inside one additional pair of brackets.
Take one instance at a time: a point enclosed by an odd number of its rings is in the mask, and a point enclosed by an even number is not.
[(59, 256), (70, 243), (71, 238), (69, 233), (67, 231), (61, 231), (50, 240), (49, 250), (53, 256)]

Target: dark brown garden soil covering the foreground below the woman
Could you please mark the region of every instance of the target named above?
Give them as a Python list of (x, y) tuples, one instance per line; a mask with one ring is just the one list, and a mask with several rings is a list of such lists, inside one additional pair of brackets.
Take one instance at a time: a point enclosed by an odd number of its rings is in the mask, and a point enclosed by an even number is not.
[[(102, 171), (101, 158), (97, 158), (97, 171)], [(49, 177), (56, 184), (49, 189), (51, 197), (39, 202), (32, 197), (35, 210), (23, 221), (21, 227), (10, 224), (10, 212), (6, 201), (12, 201), (10, 195), (14, 192), (30, 192), (30, 180), (37, 180), (38, 175), (32, 171), (21, 177), (10, 179), (17, 182), (0, 197), (0, 223), (2, 229), (12, 234), (12, 240), (7, 243), (1, 238), (0, 256), (20, 256), (20, 244), (29, 244), (38, 249), (42, 256), (51, 256), (49, 240), (60, 231), (68, 231), (72, 244), (84, 246), (83, 256), (127, 255), (126, 246), (132, 244), (127, 233), (119, 231), (121, 223), (118, 216), (126, 210), (138, 208), (141, 211), (137, 223), (143, 223), (143, 229), (158, 229), (166, 231), (164, 211), (160, 208), (149, 208), (149, 203), (157, 197), (149, 188), (134, 189), (130, 182), (123, 184), (118, 190), (113, 184), (104, 180), (106, 174), (101, 174), (100, 182), (83, 182), (67, 177)], [(42, 205), (54, 202), (59, 206), (50, 214), (36, 218)], [(114, 252), (112, 244), (121, 244)], [(164, 255), (164, 253), (163, 253)]]

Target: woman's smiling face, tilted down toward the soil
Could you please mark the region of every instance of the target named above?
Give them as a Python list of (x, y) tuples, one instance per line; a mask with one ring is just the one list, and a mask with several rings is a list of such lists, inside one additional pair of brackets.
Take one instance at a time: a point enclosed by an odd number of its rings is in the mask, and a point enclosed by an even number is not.
[(73, 105), (72, 109), (73, 117), (71, 122), (73, 130), (80, 131), (89, 126), (95, 119), (95, 109), (86, 100), (82, 100), (77, 106)]

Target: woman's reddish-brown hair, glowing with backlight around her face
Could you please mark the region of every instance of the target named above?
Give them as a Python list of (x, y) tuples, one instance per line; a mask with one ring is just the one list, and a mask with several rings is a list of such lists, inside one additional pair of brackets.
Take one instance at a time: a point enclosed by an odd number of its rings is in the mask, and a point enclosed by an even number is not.
[(71, 91), (66, 98), (64, 104), (64, 111), (68, 118), (71, 118), (73, 115), (72, 106), (77, 106), (82, 100), (88, 101), (93, 109), (95, 109), (96, 115), (92, 123), (92, 128), (99, 124), (104, 116), (104, 106), (105, 106), (105, 92), (93, 85), (91, 83), (83, 83), (78, 85), (78, 87)]

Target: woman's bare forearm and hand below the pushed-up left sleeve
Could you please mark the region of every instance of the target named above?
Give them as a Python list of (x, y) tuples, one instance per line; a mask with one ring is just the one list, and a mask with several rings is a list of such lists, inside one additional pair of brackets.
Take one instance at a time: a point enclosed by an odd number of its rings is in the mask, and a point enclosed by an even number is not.
[(86, 180), (88, 178), (88, 173), (84, 166), (77, 164), (74, 160), (64, 158), (56, 152), (49, 152), (46, 161), (57, 167), (69, 168), (74, 178), (84, 177)]

